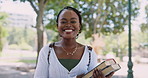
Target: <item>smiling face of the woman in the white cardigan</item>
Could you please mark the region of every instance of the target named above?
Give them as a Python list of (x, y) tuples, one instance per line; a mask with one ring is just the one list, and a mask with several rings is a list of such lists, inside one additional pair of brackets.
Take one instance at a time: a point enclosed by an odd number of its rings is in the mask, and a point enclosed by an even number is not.
[(79, 17), (73, 10), (63, 10), (58, 19), (58, 31), (63, 38), (75, 38), (80, 30)]

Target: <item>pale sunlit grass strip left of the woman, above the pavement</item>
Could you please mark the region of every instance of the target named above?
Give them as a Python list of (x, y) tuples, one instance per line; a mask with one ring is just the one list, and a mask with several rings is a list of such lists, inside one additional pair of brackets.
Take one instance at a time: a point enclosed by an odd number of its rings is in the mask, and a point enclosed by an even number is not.
[(0, 62), (36, 63), (37, 53), (32, 51), (5, 50), (0, 54)]

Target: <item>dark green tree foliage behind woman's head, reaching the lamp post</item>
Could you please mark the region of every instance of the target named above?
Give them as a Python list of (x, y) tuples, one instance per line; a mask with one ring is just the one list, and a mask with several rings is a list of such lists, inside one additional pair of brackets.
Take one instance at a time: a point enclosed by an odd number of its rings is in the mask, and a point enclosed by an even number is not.
[[(62, 1), (62, 0), (60, 0)], [(92, 37), (94, 33), (104, 35), (118, 34), (124, 31), (128, 21), (128, 0), (68, 0), (54, 1), (47, 6), (46, 14), (49, 23), (46, 28), (56, 30), (56, 16), (61, 8), (71, 5), (79, 9), (83, 18), (83, 31), (85, 38)], [(58, 5), (58, 6), (56, 6)], [(139, 10), (138, 0), (132, 0), (132, 20), (137, 16)]]

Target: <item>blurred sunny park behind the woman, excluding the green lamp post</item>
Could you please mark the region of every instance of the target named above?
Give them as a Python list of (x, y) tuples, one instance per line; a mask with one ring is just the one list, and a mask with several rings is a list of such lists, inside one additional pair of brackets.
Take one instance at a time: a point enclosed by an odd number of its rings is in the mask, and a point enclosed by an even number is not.
[[(0, 78), (33, 78), (40, 49), (60, 37), (56, 16), (64, 6), (81, 11), (77, 41), (90, 45), (98, 60), (121, 65), (113, 78), (128, 74), (128, 0), (0, 0)], [(131, 0), (134, 78), (148, 70), (148, 0)]]

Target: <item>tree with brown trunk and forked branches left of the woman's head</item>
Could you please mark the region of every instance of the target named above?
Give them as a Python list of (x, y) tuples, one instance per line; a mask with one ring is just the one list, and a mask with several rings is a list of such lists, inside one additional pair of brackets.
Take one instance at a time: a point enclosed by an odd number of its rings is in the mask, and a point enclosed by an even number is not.
[(54, 7), (54, 9), (58, 9), (56, 5), (61, 6), (67, 4), (67, 2), (72, 1), (72, 0), (13, 0), (13, 1), (21, 1), (25, 2), (28, 1), (32, 8), (34, 9), (35, 13), (37, 14), (36, 18), (36, 26), (35, 28), (37, 29), (37, 52), (39, 54), (40, 49), (43, 47), (43, 42), (44, 42), (44, 24), (47, 15), (49, 14), (49, 9), (50, 11), (52, 10), (51, 7)]

